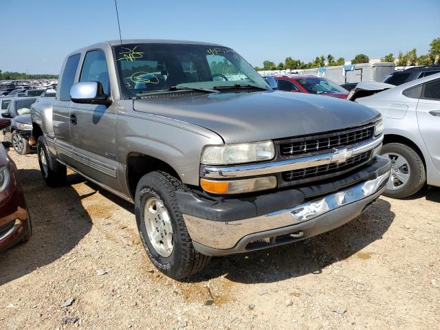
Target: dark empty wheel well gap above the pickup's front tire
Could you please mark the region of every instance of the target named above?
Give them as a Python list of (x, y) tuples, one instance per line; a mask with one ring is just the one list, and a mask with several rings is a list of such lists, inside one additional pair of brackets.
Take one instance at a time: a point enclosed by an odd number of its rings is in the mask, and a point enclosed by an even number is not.
[(164, 172), (173, 175), (173, 177), (180, 179), (175, 169), (166, 164), (166, 162), (141, 153), (131, 153), (126, 159), (126, 167), (126, 179), (132, 197), (135, 196), (137, 182), (140, 178), (154, 170), (163, 170)]

